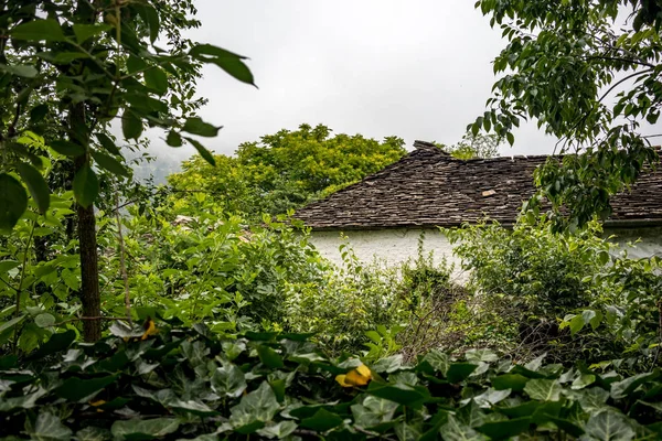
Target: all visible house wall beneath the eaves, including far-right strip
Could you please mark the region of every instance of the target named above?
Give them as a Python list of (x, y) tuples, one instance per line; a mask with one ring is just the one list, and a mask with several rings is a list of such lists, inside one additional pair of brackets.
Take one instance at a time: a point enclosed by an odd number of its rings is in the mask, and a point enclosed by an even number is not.
[[(375, 230), (349, 230), (341, 237), (341, 232), (312, 232), (311, 241), (322, 256), (337, 265), (342, 263), (339, 247), (349, 241), (356, 257), (363, 262), (375, 259), (386, 265), (397, 265), (418, 256), (418, 239), (425, 234), (424, 251), (434, 252), (434, 260), (439, 263), (445, 257), (448, 263), (455, 265), (453, 278), (458, 281), (467, 279), (460, 268), (460, 260), (453, 256), (448, 238), (436, 228), (395, 228)], [(616, 236), (612, 240), (628, 250), (632, 258), (658, 255), (662, 257), (662, 228), (606, 228), (606, 236)], [(628, 243), (640, 240), (631, 246)]]

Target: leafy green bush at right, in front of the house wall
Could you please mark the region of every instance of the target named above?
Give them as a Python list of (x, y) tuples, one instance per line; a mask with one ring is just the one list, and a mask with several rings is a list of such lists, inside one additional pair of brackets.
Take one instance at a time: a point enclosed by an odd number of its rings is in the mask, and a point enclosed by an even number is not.
[[(554, 233), (544, 216), (512, 229), (481, 224), (447, 234), (480, 299), (470, 323), (479, 334), (495, 331), (513, 356), (612, 359), (632, 372), (660, 362), (658, 259), (618, 256), (598, 224)], [(478, 341), (495, 346), (490, 340)]]

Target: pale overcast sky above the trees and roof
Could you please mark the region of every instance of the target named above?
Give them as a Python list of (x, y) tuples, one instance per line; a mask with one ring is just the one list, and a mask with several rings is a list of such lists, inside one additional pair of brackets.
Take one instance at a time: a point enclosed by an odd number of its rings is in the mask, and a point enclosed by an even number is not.
[[(224, 126), (205, 144), (226, 154), (302, 122), (380, 140), (398, 136), (407, 147), (415, 139), (457, 142), (484, 111), (491, 61), (505, 44), (473, 0), (195, 3), (202, 28), (191, 37), (250, 57), (259, 87), (204, 68), (197, 90), (210, 103), (201, 116)], [(501, 153), (553, 148), (530, 125)]]

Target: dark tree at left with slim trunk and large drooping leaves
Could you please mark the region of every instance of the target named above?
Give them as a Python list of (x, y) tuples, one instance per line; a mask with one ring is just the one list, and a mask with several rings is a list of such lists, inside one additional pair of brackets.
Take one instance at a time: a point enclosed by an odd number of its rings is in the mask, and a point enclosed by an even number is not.
[[(215, 137), (220, 129), (194, 116), (201, 103), (192, 100), (191, 86), (199, 68), (212, 63), (253, 84), (242, 56), (182, 37), (181, 29), (199, 24), (191, 19), (194, 13), (190, 0), (0, 3), (0, 32), (6, 35), (0, 41), (0, 230), (11, 232), (29, 213), (29, 195), (41, 215), (49, 214), (50, 189), (42, 170), (49, 157), (66, 157), (64, 170), (75, 173), (70, 182), (87, 318), (100, 312), (94, 211), (99, 175), (129, 176), (121, 147), (107, 132), (109, 125), (121, 121), (129, 143), (146, 127), (161, 128), (168, 131), (169, 146), (188, 142), (213, 163), (193, 137)], [(19, 142), (31, 132), (43, 136), (43, 146)], [(85, 320), (84, 335), (97, 340), (99, 320)]]

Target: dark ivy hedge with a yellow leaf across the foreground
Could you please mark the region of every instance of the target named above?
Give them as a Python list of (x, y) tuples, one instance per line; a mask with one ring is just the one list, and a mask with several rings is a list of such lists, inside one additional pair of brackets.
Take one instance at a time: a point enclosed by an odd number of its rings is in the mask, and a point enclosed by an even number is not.
[[(150, 321), (148, 321), (148, 324)], [(218, 340), (204, 326), (115, 324), (94, 345), (55, 334), (0, 357), (0, 438), (659, 439), (660, 373), (622, 377), (469, 351), (369, 366), (302, 335)], [(341, 387), (341, 385), (345, 387)]]

